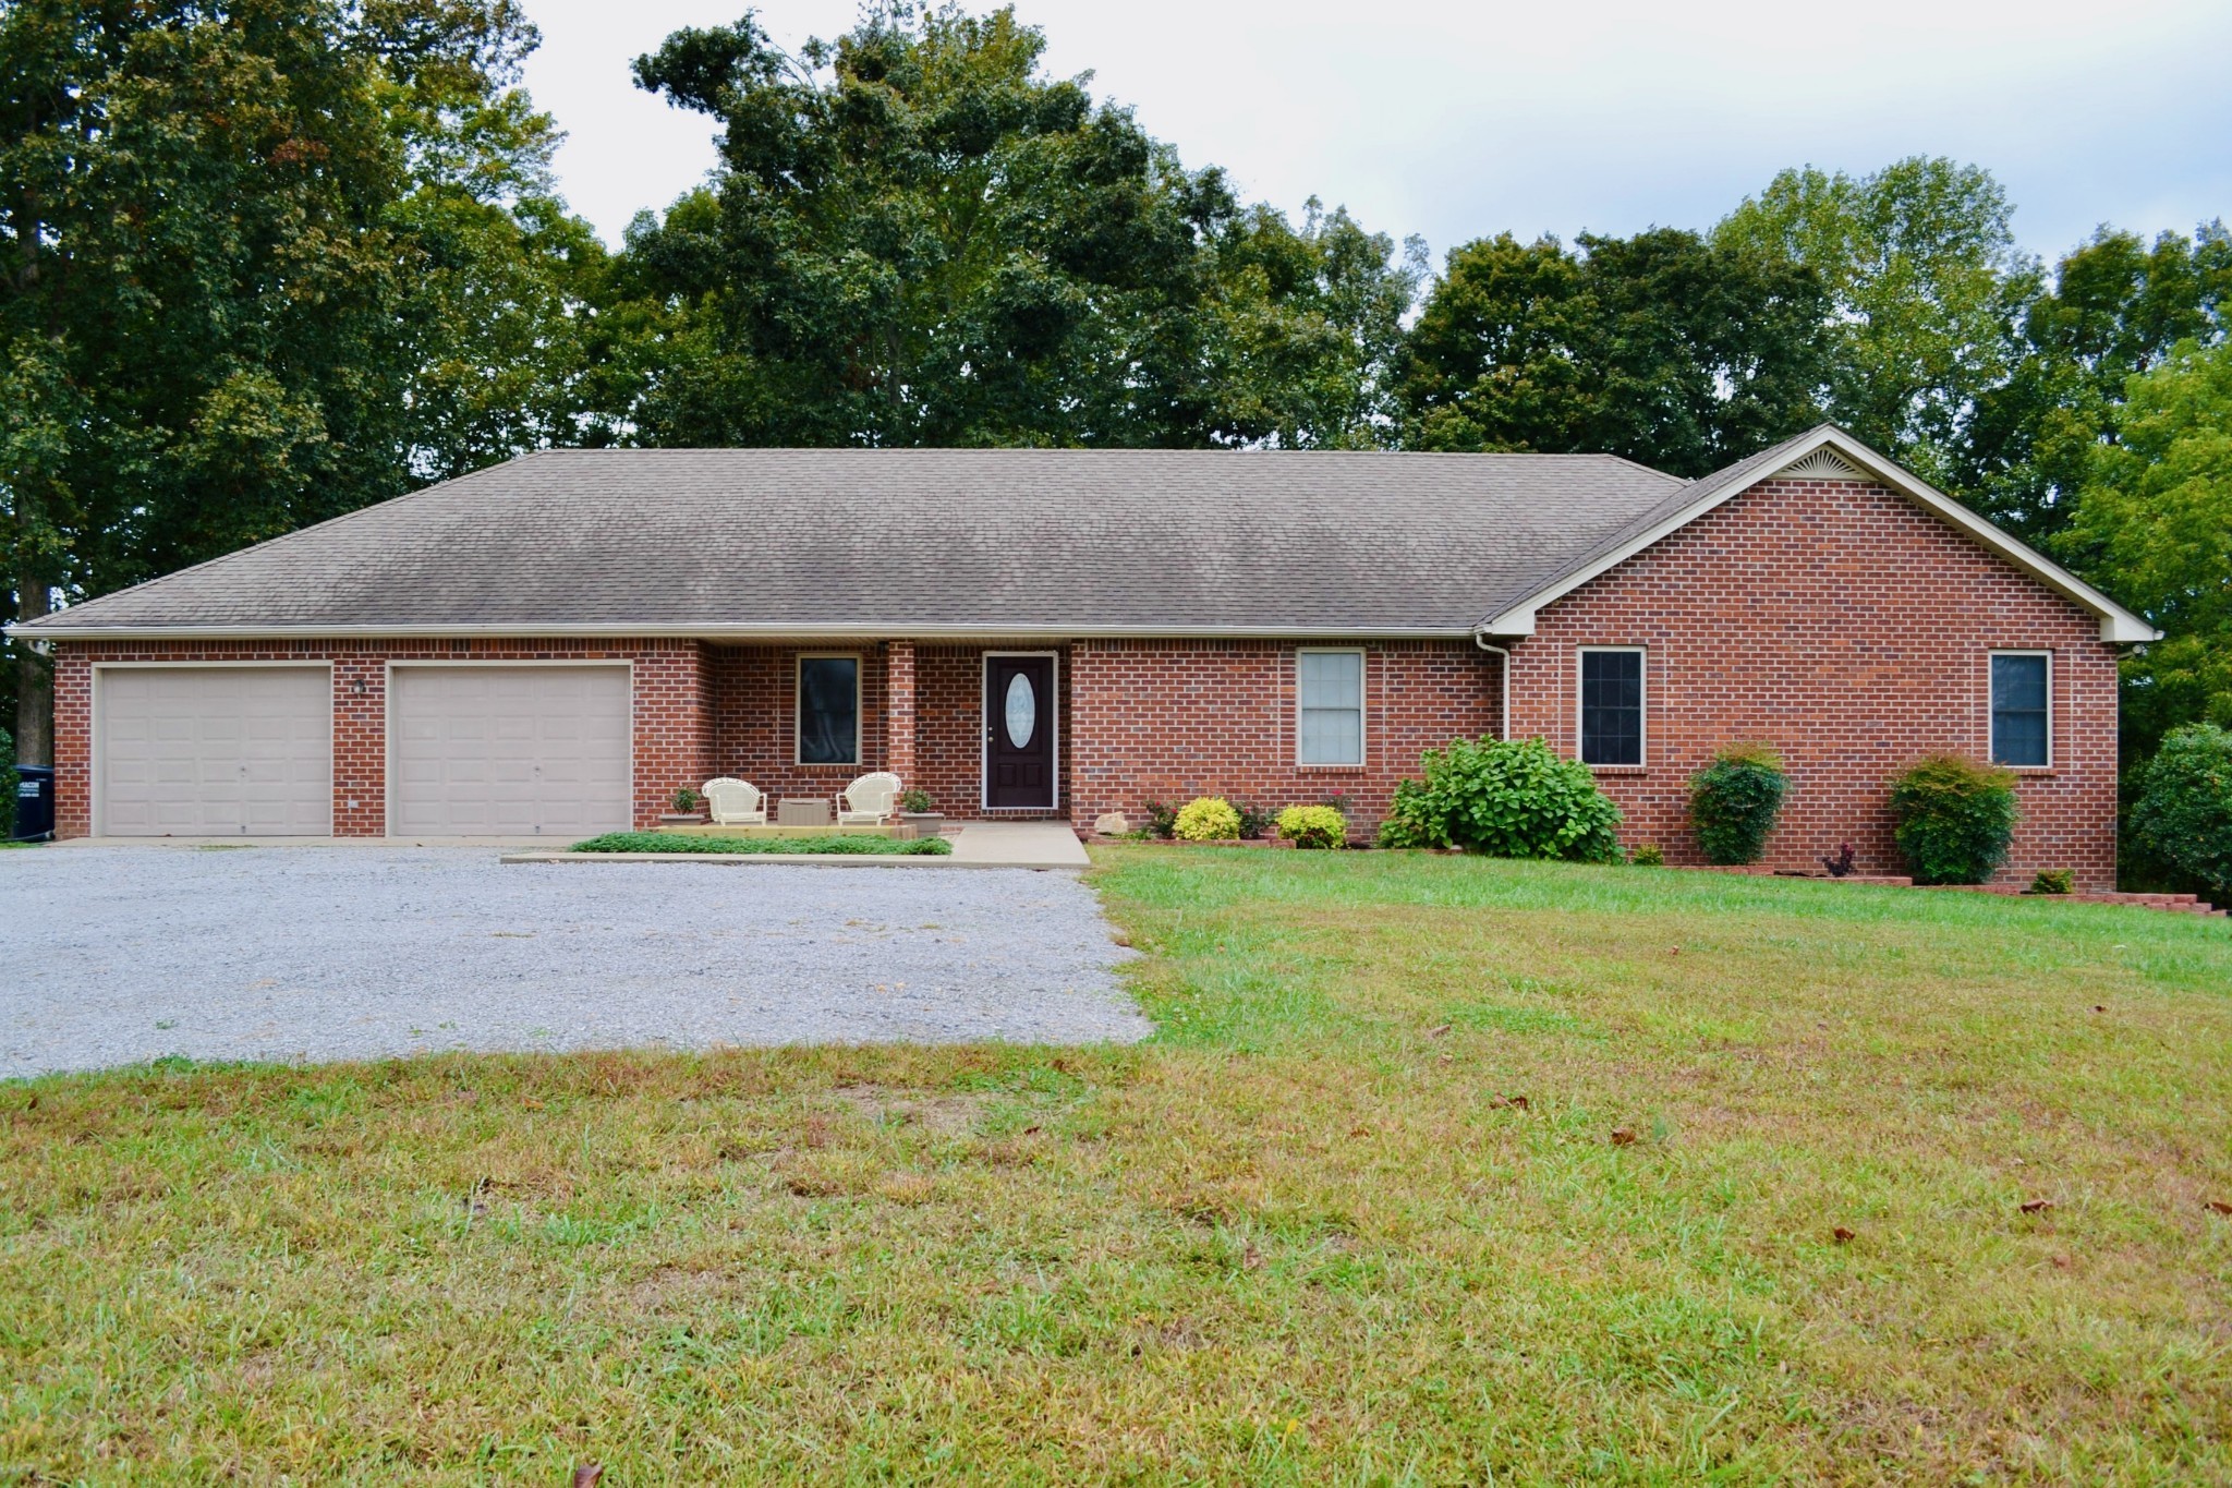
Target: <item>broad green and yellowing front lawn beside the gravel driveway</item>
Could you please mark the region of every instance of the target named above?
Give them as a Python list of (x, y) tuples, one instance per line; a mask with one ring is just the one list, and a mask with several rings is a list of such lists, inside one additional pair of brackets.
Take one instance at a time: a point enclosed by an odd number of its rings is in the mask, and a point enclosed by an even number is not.
[(1098, 861), (1138, 1049), (0, 1086), (0, 1479), (2232, 1479), (2223, 921)]

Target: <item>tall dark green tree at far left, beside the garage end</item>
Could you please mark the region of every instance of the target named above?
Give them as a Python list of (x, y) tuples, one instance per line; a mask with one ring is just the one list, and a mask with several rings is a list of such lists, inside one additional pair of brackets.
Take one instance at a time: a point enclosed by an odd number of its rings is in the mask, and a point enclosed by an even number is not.
[[(0, 9), (18, 618), (551, 433), (551, 263), (580, 241), (509, 89), (531, 45), (516, 0)], [(16, 660), (45, 759), (45, 669)]]

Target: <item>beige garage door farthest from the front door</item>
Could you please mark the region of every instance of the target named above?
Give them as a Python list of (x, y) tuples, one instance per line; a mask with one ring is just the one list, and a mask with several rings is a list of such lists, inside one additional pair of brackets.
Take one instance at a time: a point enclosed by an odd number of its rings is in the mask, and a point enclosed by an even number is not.
[(96, 832), (333, 832), (326, 667), (103, 667), (94, 714)]

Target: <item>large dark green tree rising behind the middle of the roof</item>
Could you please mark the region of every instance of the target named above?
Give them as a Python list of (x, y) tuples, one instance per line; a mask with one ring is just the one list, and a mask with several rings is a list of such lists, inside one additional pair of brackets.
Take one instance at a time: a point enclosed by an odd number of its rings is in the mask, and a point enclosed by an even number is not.
[(712, 187), (629, 230), (618, 422), (652, 444), (1366, 439), (1408, 306), (1384, 241), (1241, 214), (1042, 51), (1009, 9), (895, 2), (797, 56), (745, 16), (638, 58), (723, 132)]

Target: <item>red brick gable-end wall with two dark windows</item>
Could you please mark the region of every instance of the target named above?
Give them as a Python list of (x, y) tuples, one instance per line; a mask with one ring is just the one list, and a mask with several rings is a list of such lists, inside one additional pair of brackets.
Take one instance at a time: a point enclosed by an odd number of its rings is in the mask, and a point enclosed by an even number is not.
[(1701, 861), (1687, 776), (1734, 741), (1768, 741), (1792, 792), (1774, 868), (1850, 841), (1897, 872), (1886, 794), (1917, 756), (1989, 754), (1989, 654), (2053, 651), (2053, 767), (2027, 770), (2002, 879), (2074, 868), (2116, 879), (2116, 649), (2100, 622), (1882, 486), (1774, 480), (1549, 605), (1511, 647), (1511, 732), (1578, 747), (1585, 645), (1643, 645), (1645, 765), (1605, 770), (1620, 841)]

